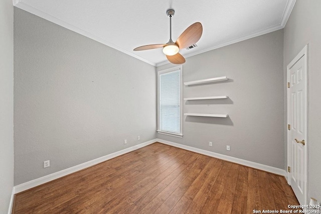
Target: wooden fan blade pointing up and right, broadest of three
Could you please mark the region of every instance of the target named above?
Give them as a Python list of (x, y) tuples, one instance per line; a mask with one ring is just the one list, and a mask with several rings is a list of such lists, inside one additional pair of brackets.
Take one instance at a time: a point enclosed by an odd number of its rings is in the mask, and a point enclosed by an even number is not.
[(194, 23), (188, 27), (181, 36), (177, 39), (176, 44), (182, 48), (187, 48), (200, 40), (203, 33), (202, 24), (199, 22)]

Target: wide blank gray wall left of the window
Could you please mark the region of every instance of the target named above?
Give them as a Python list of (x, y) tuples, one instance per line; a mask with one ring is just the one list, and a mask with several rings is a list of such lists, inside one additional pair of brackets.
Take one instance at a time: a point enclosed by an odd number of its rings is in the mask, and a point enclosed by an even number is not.
[(15, 185), (155, 139), (153, 66), (17, 8), (14, 42)]

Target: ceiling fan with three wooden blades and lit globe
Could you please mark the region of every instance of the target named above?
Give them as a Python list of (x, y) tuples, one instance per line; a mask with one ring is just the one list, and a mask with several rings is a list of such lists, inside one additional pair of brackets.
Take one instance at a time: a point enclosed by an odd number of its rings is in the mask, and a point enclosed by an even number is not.
[(172, 40), (172, 17), (175, 14), (173, 9), (169, 9), (166, 11), (168, 17), (170, 17), (170, 40), (166, 44), (153, 44), (153, 45), (143, 45), (134, 49), (134, 51), (143, 51), (155, 48), (163, 48), (163, 52), (166, 55), (167, 59), (174, 64), (183, 64), (185, 62), (185, 58), (179, 53), (180, 49), (187, 48), (197, 41), (200, 40), (203, 27), (202, 24), (196, 22), (188, 27), (176, 40), (173, 42)]

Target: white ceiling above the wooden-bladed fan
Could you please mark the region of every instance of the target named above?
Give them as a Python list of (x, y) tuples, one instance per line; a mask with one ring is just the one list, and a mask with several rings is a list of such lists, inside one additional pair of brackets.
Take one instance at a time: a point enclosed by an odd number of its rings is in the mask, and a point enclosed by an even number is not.
[[(169, 41), (169, 18), (175, 10), (175, 41), (191, 24), (201, 22), (198, 47), (184, 57), (282, 29), (295, 0), (14, 0), (14, 5), (154, 66), (169, 63), (162, 48), (133, 51), (137, 46)], [(188, 59), (187, 59), (188, 60)]]

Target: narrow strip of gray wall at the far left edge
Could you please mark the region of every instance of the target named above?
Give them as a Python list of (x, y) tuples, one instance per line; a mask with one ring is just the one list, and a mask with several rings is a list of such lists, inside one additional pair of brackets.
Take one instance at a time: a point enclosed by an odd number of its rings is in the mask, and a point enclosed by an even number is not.
[(14, 7), (0, 1), (0, 213), (14, 186)]

